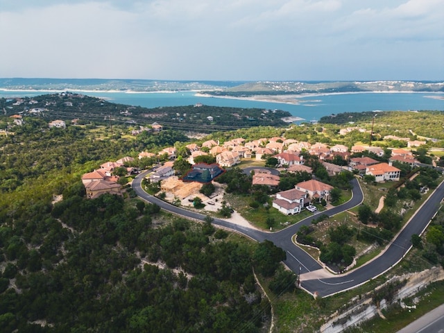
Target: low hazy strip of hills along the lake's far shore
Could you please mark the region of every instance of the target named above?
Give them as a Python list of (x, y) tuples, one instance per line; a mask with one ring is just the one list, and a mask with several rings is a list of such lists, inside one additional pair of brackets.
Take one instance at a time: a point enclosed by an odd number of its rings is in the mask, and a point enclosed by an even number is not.
[(343, 92), (444, 92), (443, 81), (209, 81), (99, 78), (0, 78), (0, 89), (162, 92), (196, 90), (218, 96)]

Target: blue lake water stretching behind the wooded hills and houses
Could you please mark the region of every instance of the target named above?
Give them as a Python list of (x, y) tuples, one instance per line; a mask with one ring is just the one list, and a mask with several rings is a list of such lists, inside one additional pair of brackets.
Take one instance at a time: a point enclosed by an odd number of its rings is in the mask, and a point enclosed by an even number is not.
[[(4, 92), (0, 97), (37, 96), (44, 92)], [(372, 110), (440, 110), (444, 111), (444, 94), (432, 93), (360, 93), (332, 94), (321, 96), (297, 96), (299, 104), (246, 101), (238, 99), (220, 99), (195, 96), (195, 92), (173, 93), (137, 93), (125, 92), (84, 92), (89, 96), (101, 97), (113, 103), (157, 108), (160, 106), (195, 105), (202, 103), (214, 106), (236, 108), (264, 108), (289, 111), (293, 116), (307, 120), (320, 119), (323, 116), (342, 112), (363, 112)], [(433, 99), (432, 97), (441, 97)]]

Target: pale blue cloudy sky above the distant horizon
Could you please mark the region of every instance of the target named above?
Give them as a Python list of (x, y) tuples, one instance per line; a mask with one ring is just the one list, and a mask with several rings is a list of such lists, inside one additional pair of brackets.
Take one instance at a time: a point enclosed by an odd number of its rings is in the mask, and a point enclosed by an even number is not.
[(0, 0), (1, 78), (444, 80), (444, 0)]

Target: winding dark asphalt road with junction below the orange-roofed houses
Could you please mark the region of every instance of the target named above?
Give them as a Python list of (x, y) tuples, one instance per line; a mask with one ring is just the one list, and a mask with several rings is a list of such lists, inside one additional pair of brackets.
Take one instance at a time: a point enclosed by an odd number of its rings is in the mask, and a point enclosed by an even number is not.
[[(150, 203), (155, 203), (162, 209), (175, 214), (186, 216), (190, 219), (205, 219), (205, 215), (203, 214), (190, 212), (146, 194), (141, 186), (142, 179), (146, 173), (139, 174), (133, 180), (133, 189), (137, 196), (147, 200)], [(356, 179), (352, 180), (352, 185), (353, 195), (351, 200), (349, 200), (347, 203), (334, 207), (326, 212), (318, 212), (317, 214), (314, 214), (307, 219), (300, 221), (299, 223), (291, 225), (284, 230), (280, 230), (279, 232), (262, 232), (259, 230), (246, 228), (241, 225), (236, 225), (222, 219), (214, 219), (213, 223), (216, 225), (221, 225), (225, 228), (230, 228), (237, 232), (241, 232), (242, 234), (245, 234), (246, 236), (259, 242), (264, 241), (265, 239), (273, 241), (276, 246), (279, 246), (287, 252), (287, 259), (284, 260), (284, 263), (287, 264), (287, 266), (296, 274), (316, 271), (321, 269), (322, 266), (304, 250), (294, 245), (291, 238), (294, 234), (296, 234), (296, 232), (298, 232), (302, 225), (310, 225), (311, 221), (315, 219), (318, 214), (333, 216), (359, 205), (364, 198), (361, 187), (359, 187), (359, 182)], [(404, 226), (395, 239), (391, 241), (384, 253), (373, 259), (373, 261), (368, 262), (368, 264), (350, 271), (349, 273), (336, 275), (333, 278), (302, 281), (301, 287), (311, 294), (316, 292), (319, 296), (331, 296), (334, 293), (339, 293), (341, 291), (357, 287), (360, 284), (364, 284), (365, 282), (388, 271), (388, 269), (392, 268), (395, 264), (398, 264), (402, 257), (407, 253), (407, 250), (411, 248), (411, 234), (421, 234), (422, 231), (425, 230), (429, 224), (429, 221), (432, 219), (434, 214), (436, 214), (436, 211), (438, 210), (443, 198), (444, 182), (438, 186), (432, 196), (430, 196), (424, 205), (422, 205), (422, 207), (420, 207), (420, 209), (416, 212), (416, 214), (413, 215), (409, 223), (407, 223), (407, 225)]]

